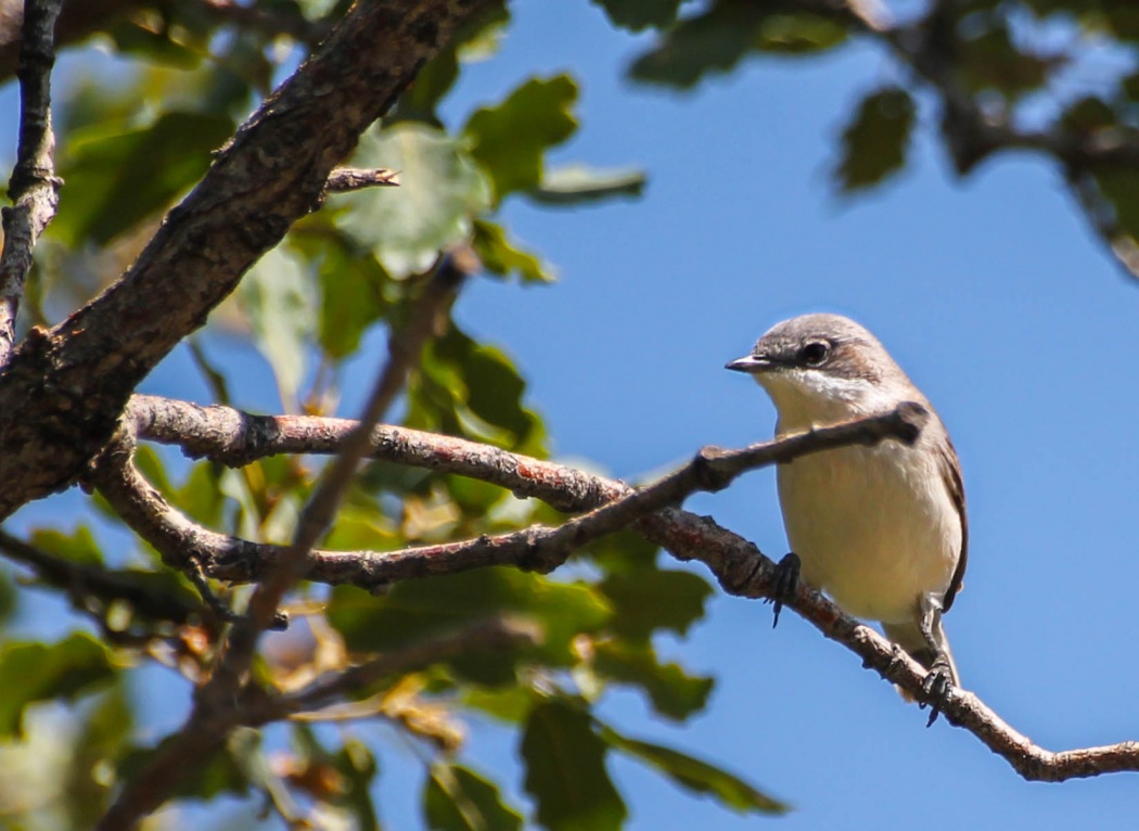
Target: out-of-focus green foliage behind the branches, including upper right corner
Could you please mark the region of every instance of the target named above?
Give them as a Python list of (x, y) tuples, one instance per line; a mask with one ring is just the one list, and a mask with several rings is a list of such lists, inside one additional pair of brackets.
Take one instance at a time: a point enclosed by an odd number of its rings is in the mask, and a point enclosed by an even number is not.
[[(1046, 153), (1049, 142), (1139, 146), (1139, 6), (1132, 2), (906, 3), (898, 30), (888, 17), (859, 20), (836, 3), (592, 3), (614, 26), (641, 33), (630, 79), (672, 90), (743, 72), (756, 58), (814, 59), (859, 38), (876, 41), (898, 71), (875, 79), (845, 120), (833, 168), (839, 192), (872, 192), (900, 174), (912, 135), (925, 124), (936, 125), (962, 174), (1000, 149), (993, 139), (1000, 131)], [(115, 66), (106, 68), (88, 49), (83, 66), (90, 72), (57, 84), (58, 166), (66, 187), (36, 249), (28, 321), (58, 321), (114, 280), (195, 186), (211, 154), (349, 6), (142, 2), (91, 32), (89, 44), (112, 54)], [(245, 378), (218, 359), (240, 348), (238, 343), (263, 356), (285, 410), (335, 412), (352, 364), (375, 363), (363, 347), (413, 316), (440, 257), (452, 247), (473, 248), (491, 278), (554, 281), (555, 268), (541, 252), (514, 238), (503, 206), (525, 200), (542, 209), (581, 207), (644, 192), (646, 176), (634, 167), (565, 161), (580, 129), (582, 97), (570, 73), (522, 79), (473, 112), (444, 106), (465, 66), (492, 57), (509, 31), (506, 11), (461, 31), (345, 161), (393, 168), (399, 187), (330, 195), (212, 315), (206, 337), (188, 349), (188, 365), (220, 402), (232, 392), (235, 403), (244, 403)], [(1104, 56), (1109, 68), (1096, 68), (1095, 58)], [(555, 151), (557, 164), (550, 161)], [(1139, 235), (1139, 171), (1113, 163), (1083, 172), (1088, 211), (1101, 233), (1113, 244)], [(544, 456), (550, 443), (549, 426), (528, 401), (524, 368), (448, 314), (435, 321), (390, 419), (535, 456)], [(192, 520), (273, 542), (292, 535), (321, 466), (278, 456), (227, 470), (147, 446), (137, 463)], [(110, 602), (81, 582), (43, 584), (43, 592), (64, 600), (56, 628), (50, 636), (16, 637), (13, 622), (23, 619), (27, 604), (16, 603), (13, 575), (0, 574), (0, 673), (18, 680), (0, 693), (0, 815), (13, 828), (90, 826), (124, 777), (161, 744), (144, 707), (155, 683), (144, 668), (161, 663), (177, 670), (188, 698), (216, 648), (219, 627), (186, 611), (200, 609), (190, 581), (164, 567), (147, 545), (124, 542), (132, 537), (101, 499), (92, 505), (79, 524), (60, 519), (28, 534), (27, 542), (59, 562), (104, 569), (157, 602)], [(391, 551), (562, 519), (547, 505), (484, 483), (371, 463), (325, 544)], [(378, 680), (355, 691), (357, 700), (345, 706), (357, 715), (337, 730), (297, 722), (273, 740), (239, 730), (195, 767), (178, 796), (215, 801), (237, 795), (262, 817), (297, 828), (378, 829), (383, 762), (393, 744), (410, 742), (423, 762), (419, 798), (428, 829), (620, 828), (629, 809), (609, 775), (614, 754), (728, 809), (781, 813), (786, 805), (718, 765), (629, 738), (599, 719), (599, 705), (613, 690), (641, 697), (662, 730), (708, 704), (713, 680), (666, 652), (704, 618), (713, 587), (661, 560), (625, 532), (592, 544), (554, 576), (475, 569), (402, 583), (379, 595), (304, 586), (298, 617), (308, 625), (274, 636), (259, 666), (267, 683), (303, 683), (500, 616), (525, 618), (543, 637), (536, 645), (459, 655)], [(226, 602), (244, 592), (214, 589)], [(467, 718), (515, 737), (521, 801), (509, 772), (475, 764), (480, 747), (464, 738)], [(369, 729), (377, 721), (385, 733)], [(407, 764), (407, 755), (396, 758)]]

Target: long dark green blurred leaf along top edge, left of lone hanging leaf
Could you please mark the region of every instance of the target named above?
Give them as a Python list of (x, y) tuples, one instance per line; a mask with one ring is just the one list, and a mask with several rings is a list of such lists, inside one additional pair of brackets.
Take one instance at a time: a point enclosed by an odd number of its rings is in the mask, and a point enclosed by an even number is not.
[(675, 25), (630, 67), (634, 81), (688, 89), (728, 72), (752, 51), (812, 54), (842, 43), (846, 31), (809, 13), (784, 14), (775, 3), (716, 3)]

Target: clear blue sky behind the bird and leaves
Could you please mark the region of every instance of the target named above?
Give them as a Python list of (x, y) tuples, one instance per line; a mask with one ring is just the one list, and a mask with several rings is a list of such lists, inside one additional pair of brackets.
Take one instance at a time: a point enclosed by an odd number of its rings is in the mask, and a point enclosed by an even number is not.
[[(518, 361), (557, 456), (636, 480), (703, 444), (767, 438), (770, 404), (724, 361), (786, 316), (850, 314), (929, 396), (960, 452), (970, 559), (945, 623), (964, 685), (1051, 749), (1136, 738), (1139, 386), (1129, 368), (1139, 365), (1139, 281), (1089, 233), (1058, 172), (1002, 156), (956, 180), (924, 101), (906, 174), (841, 199), (828, 170), (842, 124), (860, 93), (898, 80), (874, 49), (753, 60), (679, 96), (622, 80), (646, 41), (614, 32), (589, 3), (531, 0), (515, 18), (501, 52), (452, 94), (453, 120), (530, 73), (571, 71), (583, 126), (556, 158), (638, 164), (650, 176), (639, 201), (574, 212), (510, 204), (513, 230), (557, 264), (559, 282), (480, 279), (456, 307)], [(10, 87), (0, 106), (14, 124)], [(380, 343), (361, 370), (379, 360)], [(271, 389), (257, 360), (228, 357), (247, 365), (252, 389)], [(202, 396), (185, 386), (183, 361), (172, 356), (145, 389)], [(687, 507), (771, 557), (786, 550), (771, 471)], [(607, 716), (793, 803), (770, 821), (781, 828), (1098, 828), (1139, 808), (1128, 775), (1023, 782), (968, 733), (943, 722), (926, 730), (915, 706), (794, 615), (772, 632), (760, 603), (718, 599), (665, 651), (716, 675), (708, 710), (678, 730), (630, 694), (614, 697)], [(165, 718), (173, 726), (178, 714)], [(481, 766), (511, 755), (500, 733), (475, 730)], [(383, 765), (383, 809), (395, 825), (416, 811), (417, 767), (399, 751)], [(632, 829), (756, 822), (631, 764), (614, 771)]]

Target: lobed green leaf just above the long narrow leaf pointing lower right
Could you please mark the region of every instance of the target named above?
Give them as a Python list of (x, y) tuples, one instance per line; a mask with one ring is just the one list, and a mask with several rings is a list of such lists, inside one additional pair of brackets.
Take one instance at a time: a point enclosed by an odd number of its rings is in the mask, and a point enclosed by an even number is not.
[(661, 664), (648, 642), (604, 640), (593, 645), (593, 670), (641, 688), (662, 716), (683, 721), (707, 705), (714, 681), (689, 675), (679, 664)]

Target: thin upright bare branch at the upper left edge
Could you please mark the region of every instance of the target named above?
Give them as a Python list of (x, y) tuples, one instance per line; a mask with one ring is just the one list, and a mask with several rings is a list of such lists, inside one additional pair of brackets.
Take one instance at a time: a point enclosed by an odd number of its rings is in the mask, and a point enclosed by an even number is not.
[(3, 208), (0, 254), (0, 369), (16, 345), (16, 314), (32, 249), (56, 215), (56, 137), (51, 132), (51, 68), (56, 64), (56, 18), (63, 0), (27, 0), (19, 49), (19, 147), (8, 186), (13, 206)]

